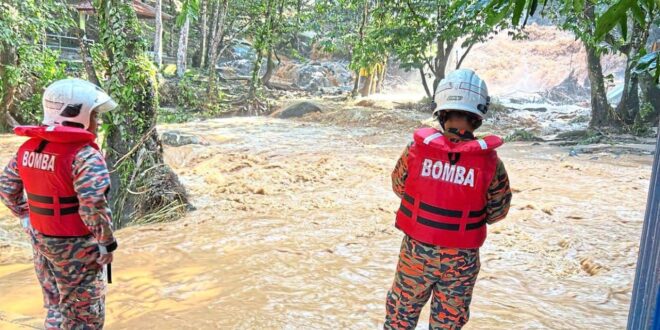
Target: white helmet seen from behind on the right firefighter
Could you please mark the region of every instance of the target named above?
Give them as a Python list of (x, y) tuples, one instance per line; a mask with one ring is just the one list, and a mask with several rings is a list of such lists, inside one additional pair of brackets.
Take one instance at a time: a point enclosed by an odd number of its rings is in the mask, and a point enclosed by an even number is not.
[(436, 88), (433, 114), (441, 111), (465, 111), (480, 120), (488, 111), (490, 97), (486, 83), (470, 69), (456, 70), (442, 79)]

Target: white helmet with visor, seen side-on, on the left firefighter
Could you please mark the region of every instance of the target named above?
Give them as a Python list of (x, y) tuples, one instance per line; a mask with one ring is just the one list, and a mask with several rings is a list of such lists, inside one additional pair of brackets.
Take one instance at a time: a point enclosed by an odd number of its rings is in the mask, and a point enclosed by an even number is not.
[(48, 126), (69, 125), (88, 129), (92, 112), (117, 107), (110, 95), (98, 86), (78, 78), (52, 83), (43, 97), (44, 120)]

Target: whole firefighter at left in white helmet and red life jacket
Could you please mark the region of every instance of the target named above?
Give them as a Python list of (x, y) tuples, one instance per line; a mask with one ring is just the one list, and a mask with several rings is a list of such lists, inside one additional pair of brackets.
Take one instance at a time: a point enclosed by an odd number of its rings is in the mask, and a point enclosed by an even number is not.
[(31, 237), (46, 329), (103, 328), (104, 265), (117, 241), (94, 141), (97, 115), (116, 106), (96, 85), (64, 79), (44, 92), (43, 126), (14, 129), (29, 139), (0, 174), (0, 200)]

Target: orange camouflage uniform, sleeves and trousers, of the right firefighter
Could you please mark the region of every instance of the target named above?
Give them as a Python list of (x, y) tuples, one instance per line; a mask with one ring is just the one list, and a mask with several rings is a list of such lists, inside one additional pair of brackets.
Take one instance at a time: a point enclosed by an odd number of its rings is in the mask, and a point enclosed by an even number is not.
[[(402, 197), (408, 175), (404, 150), (392, 172), (392, 189)], [(509, 178), (501, 160), (488, 189), (487, 223), (504, 219), (511, 205)], [(479, 249), (434, 246), (403, 238), (392, 288), (387, 294), (385, 329), (415, 329), (431, 301), (430, 329), (461, 329), (470, 317), (472, 291), (479, 274)]]

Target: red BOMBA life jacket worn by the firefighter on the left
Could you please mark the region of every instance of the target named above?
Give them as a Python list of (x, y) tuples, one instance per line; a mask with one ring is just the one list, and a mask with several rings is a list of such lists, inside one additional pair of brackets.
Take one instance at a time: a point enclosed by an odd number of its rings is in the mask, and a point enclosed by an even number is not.
[(30, 223), (48, 236), (77, 237), (91, 232), (78, 213), (73, 187), (73, 162), (78, 151), (92, 146), (96, 136), (64, 126), (21, 126), (14, 132), (31, 139), (18, 149), (18, 171), (30, 206)]

